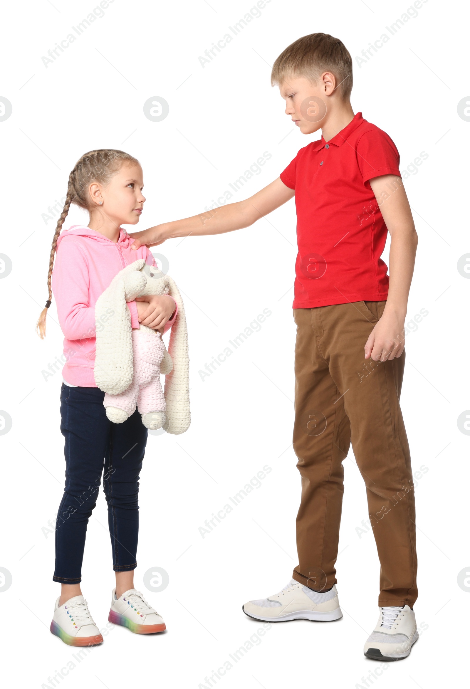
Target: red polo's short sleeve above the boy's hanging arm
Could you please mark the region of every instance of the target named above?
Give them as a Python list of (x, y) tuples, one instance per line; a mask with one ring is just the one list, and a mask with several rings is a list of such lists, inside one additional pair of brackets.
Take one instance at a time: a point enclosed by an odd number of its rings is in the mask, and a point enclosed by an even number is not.
[(356, 156), (364, 182), (383, 174), (396, 174), (401, 177), (398, 169), (400, 154), (396, 145), (388, 134), (378, 127), (362, 134), (356, 144)]

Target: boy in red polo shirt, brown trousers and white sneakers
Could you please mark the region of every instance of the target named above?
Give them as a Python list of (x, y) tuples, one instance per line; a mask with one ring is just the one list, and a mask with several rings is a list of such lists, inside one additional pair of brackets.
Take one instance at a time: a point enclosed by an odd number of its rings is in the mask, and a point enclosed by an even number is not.
[[(263, 621), (342, 617), (338, 553), (342, 462), (352, 442), (366, 484), (380, 559), (380, 615), (365, 655), (396, 660), (418, 638), (416, 533), (409, 447), (400, 411), (403, 338), (418, 238), (394, 142), (354, 114), (352, 61), (341, 41), (311, 34), (289, 45), (272, 69), (301, 149), (251, 198), (137, 232), (134, 247), (252, 225), (295, 195), (294, 451), (302, 477), (299, 564), (280, 593), (243, 606)], [(391, 235), (390, 276), (380, 255)], [(365, 361), (366, 360), (366, 361)], [(370, 361), (367, 361), (370, 360)]]

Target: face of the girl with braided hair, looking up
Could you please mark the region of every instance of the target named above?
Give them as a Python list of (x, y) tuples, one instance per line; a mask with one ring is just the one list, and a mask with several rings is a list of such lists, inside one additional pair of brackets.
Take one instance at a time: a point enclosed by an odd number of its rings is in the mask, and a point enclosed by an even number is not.
[[(90, 185), (93, 207), (116, 225), (136, 225), (142, 213), (145, 196), (142, 194), (143, 173), (137, 163), (122, 165), (106, 186)], [(99, 202), (103, 201), (102, 205)]]

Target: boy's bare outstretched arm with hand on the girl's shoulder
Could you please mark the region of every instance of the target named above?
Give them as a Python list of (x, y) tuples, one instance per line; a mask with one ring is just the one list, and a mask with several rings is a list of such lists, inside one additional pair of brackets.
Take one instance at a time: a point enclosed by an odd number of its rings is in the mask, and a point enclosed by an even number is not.
[(294, 196), (295, 190), (286, 187), (278, 177), (260, 192), (238, 203), (229, 203), (200, 215), (162, 223), (145, 229), (143, 232), (132, 232), (134, 238), (132, 249), (139, 249), (143, 244), (154, 247), (166, 239), (174, 237), (197, 236), (201, 234), (222, 234), (234, 229), (248, 227), (259, 218), (271, 213)]

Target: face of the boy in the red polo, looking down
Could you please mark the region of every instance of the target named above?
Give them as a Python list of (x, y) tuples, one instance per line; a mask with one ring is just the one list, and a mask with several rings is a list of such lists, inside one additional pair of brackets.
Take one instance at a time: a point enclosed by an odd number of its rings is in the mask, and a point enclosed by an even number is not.
[(313, 134), (321, 129), (331, 91), (327, 74), (322, 74), (317, 83), (305, 76), (292, 76), (280, 84), (279, 90), (286, 103), (285, 114), (292, 117), (302, 134)]

